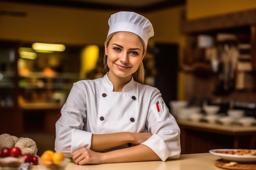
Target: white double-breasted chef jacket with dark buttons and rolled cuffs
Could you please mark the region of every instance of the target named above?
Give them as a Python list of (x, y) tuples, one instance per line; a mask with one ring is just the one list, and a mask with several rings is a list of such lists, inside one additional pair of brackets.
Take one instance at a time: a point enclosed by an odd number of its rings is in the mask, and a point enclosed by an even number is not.
[[(162, 161), (179, 157), (180, 128), (160, 91), (133, 78), (123, 92), (113, 89), (107, 74), (73, 84), (56, 122), (55, 150), (70, 157), (82, 147), (90, 149), (92, 134), (150, 132), (153, 135), (141, 144), (152, 149)], [(110, 150), (127, 147), (130, 146)]]

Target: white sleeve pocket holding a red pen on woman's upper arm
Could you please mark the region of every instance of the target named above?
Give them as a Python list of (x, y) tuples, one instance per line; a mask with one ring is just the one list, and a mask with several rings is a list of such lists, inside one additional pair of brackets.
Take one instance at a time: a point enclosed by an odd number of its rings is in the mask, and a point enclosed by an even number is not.
[(150, 106), (150, 110), (155, 115), (155, 119), (157, 119), (157, 122), (170, 120), (169, 110), (164, 103), (155, 103), (152, 106)]

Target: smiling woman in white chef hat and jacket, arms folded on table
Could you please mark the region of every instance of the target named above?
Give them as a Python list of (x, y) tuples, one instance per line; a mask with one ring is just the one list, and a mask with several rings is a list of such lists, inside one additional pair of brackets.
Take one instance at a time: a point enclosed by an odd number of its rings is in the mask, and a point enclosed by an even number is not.
[(179, 157), (180, 129), (160, 91), (143, 85), (152, 24), (134, 12), (115, 13), (108, 24), (108, 73), (74, 83), (56, 122), (55, 150), (79, 165)]

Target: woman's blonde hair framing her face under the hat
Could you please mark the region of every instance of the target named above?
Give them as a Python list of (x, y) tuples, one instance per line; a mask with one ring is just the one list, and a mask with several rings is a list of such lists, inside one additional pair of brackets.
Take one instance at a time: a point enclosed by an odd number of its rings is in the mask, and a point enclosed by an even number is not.
[[(115, 33), (117, 33), (117, 32), (115, 32)], [(108, 35), (108, 37), (104, 43), (105, 45), (108, 46), (111, 38), (113, 37), (113, 35), (115, 33), (111, 33), (110, 35)], [(146, 44), (139, 36), (138, 36), (138, 38), (143, 44), (143, 54), (142, 55), (144, 56), (144, 55), (146, 55)], [(107, 73), (109, 71), (109, 68), (108, 68), (108, 56), (106, 55), (106, 53), (104, 53), (103, 65), (104, 65), (103, 71), (105, 73)], [(135, 73), (132, 74), (132, 77), (136, 82), (139, 82), (140, 84), (144, 84), (144, 66), (143, 66), (142, 62), (139, 64), (139, 68), (137, 69), (137, 71), (135, 71)]]

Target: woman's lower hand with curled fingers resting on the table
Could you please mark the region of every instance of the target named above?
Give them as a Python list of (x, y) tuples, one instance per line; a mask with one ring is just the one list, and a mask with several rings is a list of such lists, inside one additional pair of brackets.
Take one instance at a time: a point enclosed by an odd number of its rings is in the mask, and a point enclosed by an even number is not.
[(72, 159), (78, 165), (103, 163), (102, 153), (87, 148), (81, 148), (73, 152)]

